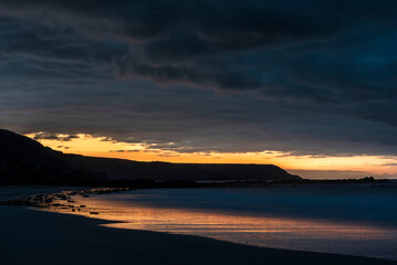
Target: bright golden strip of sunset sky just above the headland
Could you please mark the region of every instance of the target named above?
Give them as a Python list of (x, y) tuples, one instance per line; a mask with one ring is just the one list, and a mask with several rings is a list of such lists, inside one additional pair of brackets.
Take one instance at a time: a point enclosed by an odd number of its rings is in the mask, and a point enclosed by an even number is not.
[[(35, 134), (27, 135), (34, 138)], [(351, 156), (313, 157), (263, 150), (261, 152), (178, 152), (152, 148), (150, 145), (119, 142), (106, 137), (80, 134), (76, 138), (58, 135), (58, 139), (38, 139), (42, 145), (66, 153), (92, 157), (121, 158), (138, 161), (168, 161), (197, 163), (273, 163), (284, 169), (356, 170), (374, 174), (397, 173), (397, 160), (393, 157)], [(64, 140), (67, 139), (67, 140)], [(170, 144), (171, 146), (171, 144)]]

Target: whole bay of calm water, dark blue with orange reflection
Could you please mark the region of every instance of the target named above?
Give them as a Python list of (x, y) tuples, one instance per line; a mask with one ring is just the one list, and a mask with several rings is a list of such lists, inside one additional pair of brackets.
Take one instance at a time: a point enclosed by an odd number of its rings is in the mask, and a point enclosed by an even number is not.
[(75, 199), (86, 205), (75, 214), (123, 222), (109, 227), (397, 261), (396, 188), (157, 189)]

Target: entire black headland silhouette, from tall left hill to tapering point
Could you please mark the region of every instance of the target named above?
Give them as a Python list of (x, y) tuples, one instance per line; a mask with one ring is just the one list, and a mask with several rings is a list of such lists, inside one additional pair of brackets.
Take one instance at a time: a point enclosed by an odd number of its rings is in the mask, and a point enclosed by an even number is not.
[(273, 165), (138, 162), (54, 151), (0, 129), (1, 183), (90, 184), (112, 180), (293, 180)]

